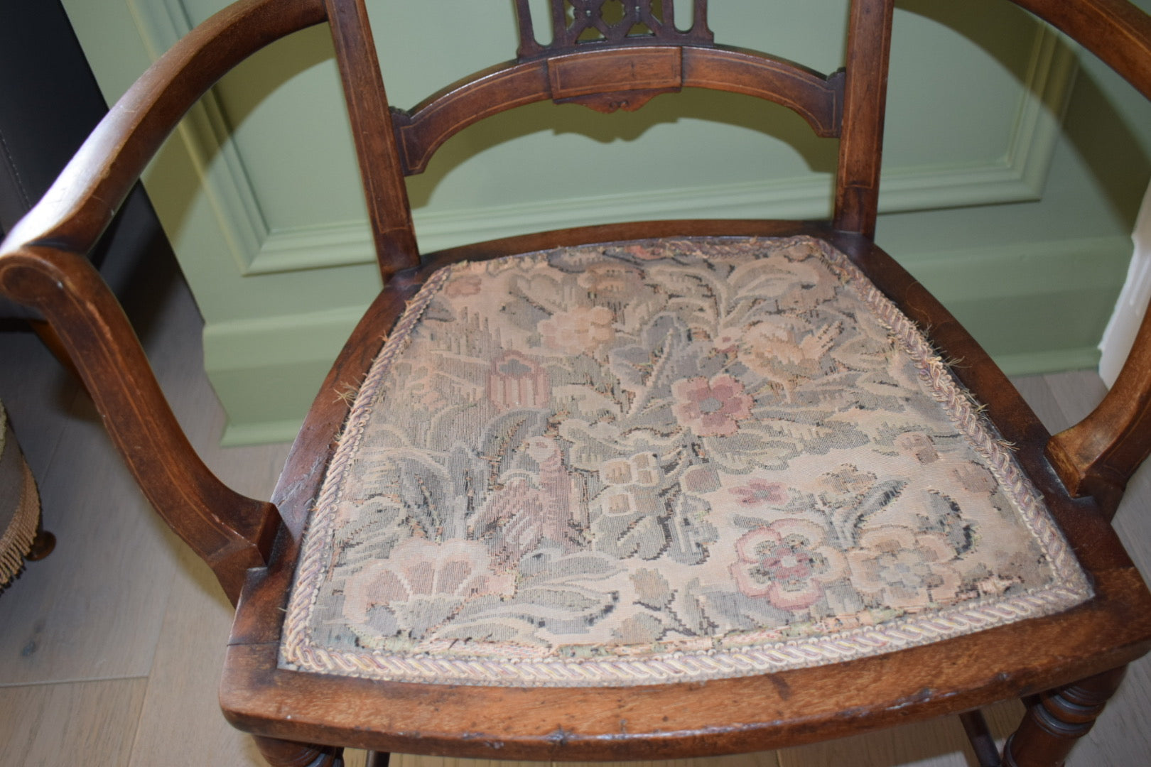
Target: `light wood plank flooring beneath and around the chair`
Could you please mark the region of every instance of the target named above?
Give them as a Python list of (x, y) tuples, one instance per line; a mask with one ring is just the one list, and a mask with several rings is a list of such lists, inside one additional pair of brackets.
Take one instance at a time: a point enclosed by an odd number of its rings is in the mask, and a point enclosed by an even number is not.
[[(266, 497), (287, 445), (218, 446), (223, 415), (203, 373), (199, 315), (178, 281), (163, 292), (145, 345), (176, 413), (227, 482)], [(1084, 413), (1103, 391), (1091, 373), (1035, 376), (1019, 385), (1052, 430)], [(0, 767), (262, 764), (216, 706), (228, 603), (207, 568), (137, 492), (86, 394), (35, 337), (0, 332), (0, 400), (39, 480), (46, 527), (59, 538), (55, 553), (29, 565), (0, 593)], [(1118, 521), (1144, 573), (1151, 573), (1149, 505), (1145, 470)], [(996, 730), (1009, 731), (1021, 711), (1019, 704), (992, 710)], [(1149, 754), (1151, 665), (1142, 662), (1069, 764), (1151, 765)], [(448, 761), (455, 760), (401, 757), (392, 764), (455, 767)], [(953, 719), (698, 761), (708, 767), (975, 765)], [(363, 754), (350, 753), (349, 762), (361, 764)]]

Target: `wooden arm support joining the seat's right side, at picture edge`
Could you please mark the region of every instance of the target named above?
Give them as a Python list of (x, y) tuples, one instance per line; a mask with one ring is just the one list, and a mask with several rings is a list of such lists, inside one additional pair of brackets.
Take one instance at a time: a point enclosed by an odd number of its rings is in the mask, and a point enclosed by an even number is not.
[(1073, 496), (1095, 496), (1107, 514), (1151, 454), (1151, 309), (1115, 385), (1099, 406), (1047, 443), (1047, 458)]

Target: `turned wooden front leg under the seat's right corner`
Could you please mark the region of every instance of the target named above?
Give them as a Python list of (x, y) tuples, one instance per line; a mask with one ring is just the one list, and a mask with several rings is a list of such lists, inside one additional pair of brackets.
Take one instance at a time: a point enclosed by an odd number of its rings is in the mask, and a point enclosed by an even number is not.
[(1044, 692), (1004, 746), (1004, 767), (1060, 767), (1123, 681), (1126, 666)]

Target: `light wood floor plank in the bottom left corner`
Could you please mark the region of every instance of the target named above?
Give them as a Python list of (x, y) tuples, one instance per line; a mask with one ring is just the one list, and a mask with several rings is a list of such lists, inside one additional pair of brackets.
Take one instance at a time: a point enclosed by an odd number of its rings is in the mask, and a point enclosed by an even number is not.
[(135, 678), (0, 689), (0, 767), (127, 765), (146, 685)]

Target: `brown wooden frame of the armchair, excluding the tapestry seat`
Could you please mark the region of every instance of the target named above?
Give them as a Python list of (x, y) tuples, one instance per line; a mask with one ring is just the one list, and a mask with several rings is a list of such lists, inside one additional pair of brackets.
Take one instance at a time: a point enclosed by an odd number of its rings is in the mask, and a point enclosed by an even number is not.
[[(1014, 0), (1151, 98), (1151, 18), (1125, 0)], [(588, 0), (589, 5), (596, 5)], [(582, 7), (585, 3), (573, 3)], [(893, 0), (852, 3), (846, 71), (715, 45), (706, 2), (679, 31), (639, 17), (650, 38), (600, 24), (602, 43), (557, 33), (536, 43), (521, 14), (514, 61), (434, 94), (388, 106), (363, 0), (242, 0), (160, 59), (120, 100), (0, 252), (0, 290), (35, 307), (69, 352), (157, 511), (237, 604), (221, 700), (273, 765), (337, 764), (340, 746), (501, 759), (658, 759), (756, 751), (960, 713), (985, 764), (998, 764), (973, 713), (1032, 699), (1003, 764), (1058, 765), (1090, 728), (1126, 664), (1151, 647), (1151, 595), (1110, 526), (1151, 450), (1151, 314), (1111, 393), (1083, 422), (1050, 435), (955, 319), (872, 241)], [(559, 3), (556, 3), (558, 7)], [(637, 14), (647, 2), (635, 3)], [(664, 0), (671, 14), (671, 0)], [(627, 11), (633, 13), (632, 10)], [(307, 415), (270, 501), (239, 496), (199, 460), (115, 299), (84, 259), (184, 112), (262, 46), (327, 22), (335, 40), (384, 287), (353, 331)], [(661, 29), (662, 28), (662, 29)], [(628, 77), (617, 64), (627, 61)], [(704, 86), (768, 98), (840, 139), (830, 222), (679, 221), (585, 227), (419, 254), (404, 176), (456, 131), (539, 100), (635, 108), (657, 93)], [(844, 251), (909, 317), (930, 328), (986, 405), (1046, 498), (1096, 596), (1058, 615), (845, 664), (647, 688), (517, 689), (373, 682), (276, 667), (282, 607), (308, 509), (348, 402), (405, 301), (435, 269), (544, 247), (662, 236), (822, 237)], [(1042, 693), (1042, 695), (1039, 695)], [(323, 745), (305, 745), (323, 744)]]

